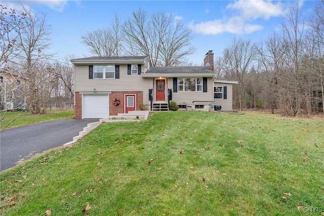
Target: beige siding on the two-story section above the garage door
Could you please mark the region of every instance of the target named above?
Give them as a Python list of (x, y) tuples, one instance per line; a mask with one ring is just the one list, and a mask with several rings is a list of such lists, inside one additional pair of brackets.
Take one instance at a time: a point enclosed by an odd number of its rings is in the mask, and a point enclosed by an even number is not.
[[(142, 65), (142, 72), (144, 66)], [(148, 90), (152, 79), (140, 74), (127, 74), (127, 65), (119, 65), (119, 79), (89, 79), (89, 65), (75, 65), (75, 92), (143, 92), (143, 102), (148, 103)]]

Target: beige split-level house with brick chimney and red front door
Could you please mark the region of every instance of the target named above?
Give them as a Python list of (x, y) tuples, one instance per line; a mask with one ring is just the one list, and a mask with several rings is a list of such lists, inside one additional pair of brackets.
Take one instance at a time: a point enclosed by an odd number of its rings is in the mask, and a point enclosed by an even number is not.
[(237, 82), (214, 83), (212, 51), (204, 59), (204, 65), (209, 63), (208, 68), (150, 67), (146, 56), (70, 61), (74, 64), (74, 110), (78, 119), (106, 118), (145, 106), (152, 111), (169, 110), (171, 100), (180, 109), (208, 111), (215, 101), (215, 105), (224, 107), (222, 110), (232, 110), (229, 94), (232, 84)]

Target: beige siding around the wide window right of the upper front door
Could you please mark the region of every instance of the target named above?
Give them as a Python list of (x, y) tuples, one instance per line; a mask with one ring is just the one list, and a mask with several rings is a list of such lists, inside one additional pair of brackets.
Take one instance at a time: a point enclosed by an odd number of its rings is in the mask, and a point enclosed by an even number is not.
[[(169, 78), (168, 89), (173, 89), (173, 78)], [(209, 109), (208, 105), (214, 99), (213, 77), (207, 78), (207, 92), (173, 92), (172, 100), (178, 105), (207, 105), (205, 110)]]

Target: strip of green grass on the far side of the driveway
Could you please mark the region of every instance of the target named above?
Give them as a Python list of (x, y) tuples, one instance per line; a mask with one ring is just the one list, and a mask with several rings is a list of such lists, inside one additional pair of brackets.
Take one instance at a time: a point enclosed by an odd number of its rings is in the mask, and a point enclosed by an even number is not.
[(45, 114), (33, 115), (30, 112), (1, 112), (0, 129), (72, 117), (74, 117), (74, 111), (65, 110), (46, 111)]

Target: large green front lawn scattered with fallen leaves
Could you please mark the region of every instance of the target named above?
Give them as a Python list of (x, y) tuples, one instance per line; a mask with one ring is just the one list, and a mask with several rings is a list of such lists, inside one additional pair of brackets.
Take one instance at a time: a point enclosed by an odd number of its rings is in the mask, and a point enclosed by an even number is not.
[[(160, 112), (1, 173), (1, 215), (321, 215), (324, 120)], [(317, 212), (316, 212), (317, 211)]]

